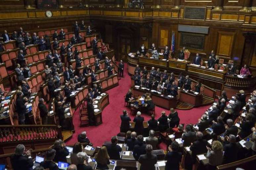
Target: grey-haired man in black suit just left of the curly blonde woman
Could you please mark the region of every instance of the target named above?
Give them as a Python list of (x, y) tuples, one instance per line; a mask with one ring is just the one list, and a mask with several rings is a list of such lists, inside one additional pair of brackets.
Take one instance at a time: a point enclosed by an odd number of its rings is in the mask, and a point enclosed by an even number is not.
[(200, 131), (196, 132), (196, 141), (193, 142), (193, 144), (190, 147), (190, 150), (192, 152), (192, 163), (195, 163), (196, 155), (204, 154), (207, 152), (206, 146), (209, 145), (208, 142), (203, 139), (203, 133)]

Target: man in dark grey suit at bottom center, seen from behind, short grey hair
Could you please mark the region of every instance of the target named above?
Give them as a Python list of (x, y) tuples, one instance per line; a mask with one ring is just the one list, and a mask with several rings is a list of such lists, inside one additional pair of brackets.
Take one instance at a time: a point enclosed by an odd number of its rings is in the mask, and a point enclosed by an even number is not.
[(157, 156), (152, 153), (152, 146), (146, 146), (146, 154), (139, 157), (139, 163), (141, 164), (140, 170), (155, 170), (155, 164), (157, 163)]

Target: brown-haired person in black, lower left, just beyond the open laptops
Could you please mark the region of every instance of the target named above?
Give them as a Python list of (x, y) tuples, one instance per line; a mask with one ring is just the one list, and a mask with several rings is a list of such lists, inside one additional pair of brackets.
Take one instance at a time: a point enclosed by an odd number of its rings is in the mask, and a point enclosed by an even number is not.
[(57, 139), (54, 142), (53, 149), (56, 151), (56, 154), (55, 154), (54, 159), (53, 159), (54, 162), (59, 162), (59, 161), (67, 162), (66, 156), (69, 155), (69, 152), (66, 148), (65, 143), (61, 139)]

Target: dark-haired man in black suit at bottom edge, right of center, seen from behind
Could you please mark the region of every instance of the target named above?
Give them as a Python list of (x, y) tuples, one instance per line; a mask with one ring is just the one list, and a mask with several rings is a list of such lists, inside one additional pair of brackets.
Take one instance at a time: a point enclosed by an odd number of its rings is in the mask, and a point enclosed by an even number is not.
[(180, 146), (178, 142), (173, 141), (168, 147), (168, 153), (164, 156), (164, 160), (167, 160), (165, 164), (166, 170), (179, 170), (182, 153), (178, 152)]

